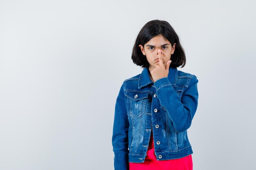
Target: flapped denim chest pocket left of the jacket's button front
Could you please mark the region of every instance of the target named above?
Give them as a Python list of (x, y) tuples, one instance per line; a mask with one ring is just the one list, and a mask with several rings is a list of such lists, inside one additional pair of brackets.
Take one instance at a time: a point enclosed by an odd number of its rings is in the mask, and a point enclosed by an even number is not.
[(128, 115), (137, 119), (145, 113), (149, 92), (126, 91)]

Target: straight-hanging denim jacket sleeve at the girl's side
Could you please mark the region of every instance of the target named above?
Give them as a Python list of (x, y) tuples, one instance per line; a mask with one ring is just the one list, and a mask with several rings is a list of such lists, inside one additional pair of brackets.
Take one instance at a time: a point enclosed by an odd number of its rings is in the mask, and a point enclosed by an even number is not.
[(115, 116), (112, 134), (112, 146), (115, 170), (129, 170), (128, 164), (128, 128), (129, 121), (122, 84), (115, 104)]

